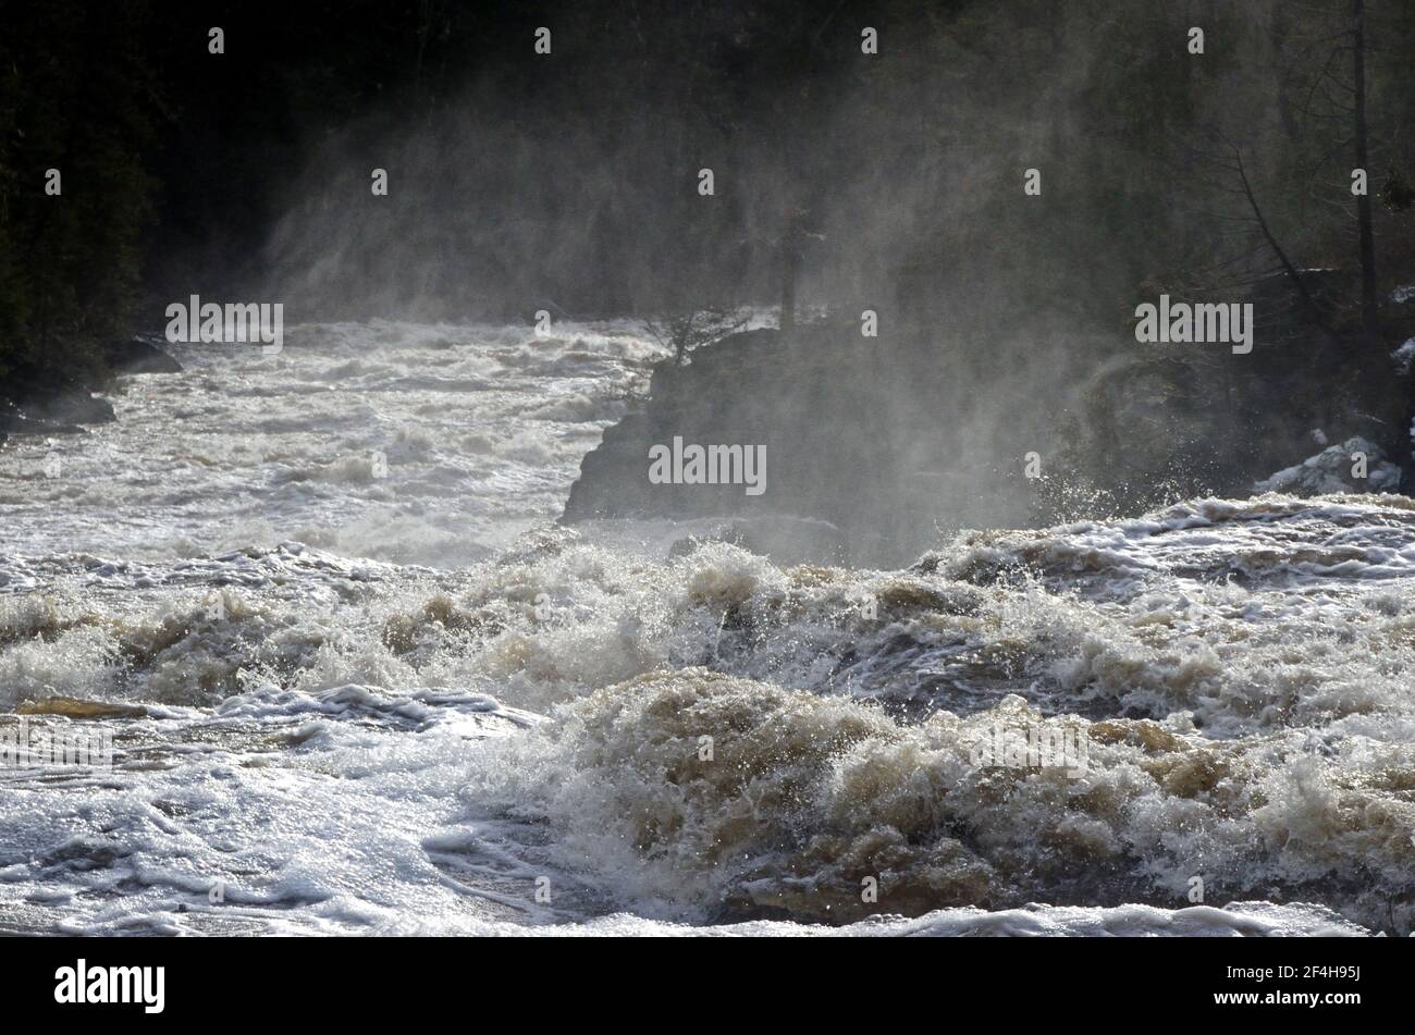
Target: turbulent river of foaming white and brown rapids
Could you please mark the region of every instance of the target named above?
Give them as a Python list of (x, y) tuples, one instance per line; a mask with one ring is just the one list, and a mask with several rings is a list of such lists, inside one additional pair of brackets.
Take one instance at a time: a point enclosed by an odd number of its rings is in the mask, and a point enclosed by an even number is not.
[(0, 766), (0, 930), (1411, 930), (1408, 499), (788, 567), (555, 523), (628, 325), (177, 356), (0, 450), (0, 734), (113, 745)]

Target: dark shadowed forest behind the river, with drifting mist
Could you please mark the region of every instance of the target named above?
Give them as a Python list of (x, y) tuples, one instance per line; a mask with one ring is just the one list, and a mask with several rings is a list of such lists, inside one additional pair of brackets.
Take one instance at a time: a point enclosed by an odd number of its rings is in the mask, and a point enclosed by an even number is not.
[[(106, 341), (191, 293), (283, 301), (294, 322), (773, 304), (795, 218), (799, 304), (877, 310), (880, 362), (959, 452), (1050, 458), (1070, 421), (1075, 484), (1118, 465), (1153, 482), (1217, 471), (1214, 451), (1245, 435), (1276, 434), (1286, 455), (1313, 414), (1344, 426), (1361, 409), (1380, 427), (1347, 430), (1394, 450), (1399, 403), (1363, 403), (1405, 334), (1391, 290), (1415, 281), (1415, 14), (1361, 7), (1384, 337), (1353, 370), (1332, 361), (1367, 290), (1351, 0), (7, 0), (0, 369), (99, 378)], [(225, 54), (208, 52), (212, 25)], [(542, 25), (550, 54), (533, 49)], [(42, 191), (51, 167), (61, 197)], [(1332, 270), (1320, 320), (1278, 255)], [(1275, 270), (1259, 321), (1326, 355), (1279, 363), (1313, 372), (1298, 387), (1312, 399), (1283, 390), (1296, 413), (1274, 428), (1244, 396), (1215, 427), (1207, 407), (1234, 399), (1238, 361), (1138, 349), (1135, 305), (1245, 298)], [(1143, 428), (1108, 386), (1140, 375), (1162, 411), (1197, 407), (1200, 430), (1132, 441)], [(1105, 450), (1109, 474), (1087, 469)]]

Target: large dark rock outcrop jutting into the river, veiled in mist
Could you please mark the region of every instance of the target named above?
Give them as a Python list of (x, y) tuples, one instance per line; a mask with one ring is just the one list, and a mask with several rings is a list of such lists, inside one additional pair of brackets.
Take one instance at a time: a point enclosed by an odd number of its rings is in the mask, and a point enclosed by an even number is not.
[[(947, 428), (927, 392), (857, 324), (734, 334), (654, 369), (644, 409), (604, 433), (563, 520), (724, 519), (780, 560), (900, 564), (937, 542)], [(760, 495), (737, 484), (652, 484), (654, 447), (766, 447)], [(985, 475), (979, 475), (985, 476)], [(996, 484), (996, 478), (992, 478)], [(696, 534), (696, 533), (695, 533)]]

